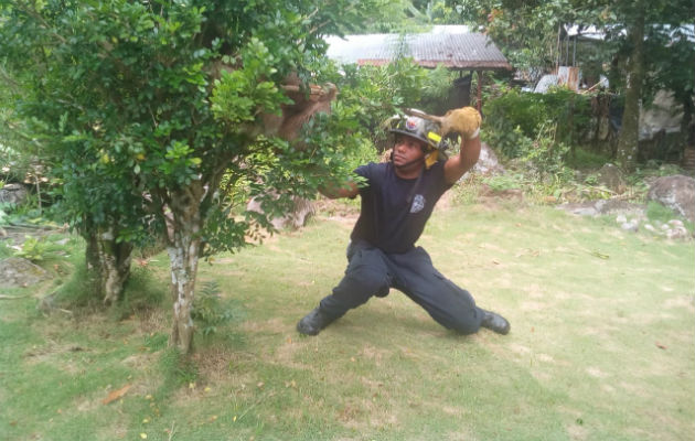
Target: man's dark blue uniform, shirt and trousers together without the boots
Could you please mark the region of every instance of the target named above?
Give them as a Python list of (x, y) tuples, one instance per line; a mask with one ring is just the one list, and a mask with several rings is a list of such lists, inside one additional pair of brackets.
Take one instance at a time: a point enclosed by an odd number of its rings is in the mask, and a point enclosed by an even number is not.
[(398, 178), (391, 162), (370, 163), (355, 173), (367, 185), (360, 190), (362, 211), (348, 247), (345, 276), (321, 300), (324, 316), (335, 320), (395, 288), (442, 326), (463, 334), (478, 332), (483, 311), (468, 291), (435, 269), (425, 249), (415, 246), (435, 204), (451, 186), (443, 176), (443, 162), (413, 180)]

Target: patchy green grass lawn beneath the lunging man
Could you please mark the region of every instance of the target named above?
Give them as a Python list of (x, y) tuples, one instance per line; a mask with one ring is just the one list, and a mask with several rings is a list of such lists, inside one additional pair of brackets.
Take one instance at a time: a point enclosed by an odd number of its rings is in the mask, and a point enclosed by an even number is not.
[[(168, 297), (143, 312), (73, 318), (42, 316), (32, 297), (0, 300), (0, 439), (695, 435), (693, 241), (553, 208), (452, 207), (435, 213), (420, 245), (510, 319), (509, 335), (456, 335), (392, 291), (301, 337), (296, 322), (342, 276), (351, 225), (319, 218), (201, 263), (199, 282), (217, 282), (235, 320), (199, 335), (190, 361), (165, 347)], [(165, 256), (147, 271), (165, 287)]]

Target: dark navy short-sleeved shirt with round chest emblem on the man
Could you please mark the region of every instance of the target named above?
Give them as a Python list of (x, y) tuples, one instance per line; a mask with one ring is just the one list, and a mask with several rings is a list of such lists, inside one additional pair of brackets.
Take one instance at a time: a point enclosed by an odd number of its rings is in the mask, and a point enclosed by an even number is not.
[(367, 185), (360, 189), (362, 209), (350, 238), (366, 240), (386, 254), (410, 250), (439, 197), (451, 187), (443, 161), (423, 170), (419, 179), (396, 175), (392, 162), (368, 163), (355, 170)]

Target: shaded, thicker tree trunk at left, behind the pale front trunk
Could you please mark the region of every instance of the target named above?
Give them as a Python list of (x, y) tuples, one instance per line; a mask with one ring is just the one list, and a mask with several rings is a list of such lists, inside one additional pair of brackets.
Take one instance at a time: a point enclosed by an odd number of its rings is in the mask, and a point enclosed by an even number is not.
[(110, 228), (87, 234), (87, 271), (104, 304), (114, 304), (120, 299), (130, 277), (131, 255), (132, 244), (117, 243)]

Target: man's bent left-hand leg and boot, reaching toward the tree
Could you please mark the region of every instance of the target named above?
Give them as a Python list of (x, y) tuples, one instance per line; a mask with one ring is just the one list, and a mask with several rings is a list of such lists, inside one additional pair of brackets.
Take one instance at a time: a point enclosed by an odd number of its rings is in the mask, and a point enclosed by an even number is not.
[(333, 293), (321, 300), (319, 306), (299, 321), (297, 330), (316, 335), (349, 310), (364, 304), (373, 295), (386, 295), (391, 276), (384, 252), (364, 243), (348, 248), (348, 269)]

